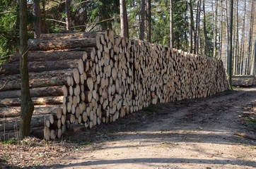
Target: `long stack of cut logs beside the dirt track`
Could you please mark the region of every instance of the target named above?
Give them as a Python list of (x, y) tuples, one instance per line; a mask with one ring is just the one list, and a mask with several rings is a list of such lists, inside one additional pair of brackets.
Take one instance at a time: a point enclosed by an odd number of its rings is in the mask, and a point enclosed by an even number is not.
[[(45, 118), (47, 140), (62, 137), (73, 125), (91, 128), (158, 102), (206, 97), (228, 89), (223, 63), (215, 58), (129, 40), (111, 30), (42, 37), (30, 39), (33, 51), (29, 51), (28, 60), (40, 65), (37, 70), (29, 64), (34, 103), (40, 108), (57, 105), (45, 111), (50, 113)], [(62, 51), (52, 51), (57, 49)], [(17, 107), (20, 102), (18, 86), (12, 82), (19, 77), (11, 71), (18, 58), (11, 61), (12, 65), (3, 66), (0, 80), (0, 85), (8, 80), (0, 92), (0, 97), (4, 94), (0, 106), (5, 108)]]

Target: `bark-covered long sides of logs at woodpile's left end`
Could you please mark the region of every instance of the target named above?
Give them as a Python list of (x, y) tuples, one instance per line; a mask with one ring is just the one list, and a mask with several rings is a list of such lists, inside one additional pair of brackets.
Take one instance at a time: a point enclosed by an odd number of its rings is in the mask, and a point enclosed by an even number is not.
[[(83, 34), (73, 35), (74, 39), (80, 39)], [(84, 33), (86, 36), (87, 33)], [(96, 33), (88, 33), (96, 36)], [(42, 42), (58, 41), (52, 39), (50, 35)], [(62, 35), (64, 37), (64, 35)], [(69, 39), (68, 36), (65, 37)], [(35, 41), (38, 39), (35, 39)], [(74, 46), (63, 50), (52, 50), (51, 48), (42, 50), (35, 48), (41, 44), (40, 40), (35, 44), (34, 40), (29, 42), (28, 70), (30, 76), (30, 95), (35, 105), (32, 117), (32, 131), (44, 131), (47, 118), (59, 112), (63, 104), (63, 85), (66, 78), (72, 75), (74, 68), (78, 67), (78, 61), (83, 58), (83, 54), (91, 52), (92, 47), (74, 49)], [(56, 43), (55, 43), (56, 44)], [(40, 46), (40, 45), (39, 45)], [(62, 48), (59, 48), (62, 49)], [(13, 54), (9, 63), (0, 67), (0, 139), (8, 139), (16, 136), (19, 127), (19, 115), (21, 110), (21, 76), (19, 75), (19, 55)], [(64, 123), (62, 117), (62, 123)], [(47, 123), (46, 123), (47, 124)], [(64, 128), (64, 127), (63, 127)]]

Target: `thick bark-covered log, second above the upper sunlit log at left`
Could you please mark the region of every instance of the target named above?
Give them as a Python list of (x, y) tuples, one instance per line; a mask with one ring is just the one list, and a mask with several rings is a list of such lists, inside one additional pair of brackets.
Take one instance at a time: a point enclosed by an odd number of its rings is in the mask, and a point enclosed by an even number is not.
[[(63, 85), (71, 73), (72, 69), (29, 73), (29, 85), (30, 88)], [(21, 75), (0, 75), (0, 87), (0, 91), (21, 89)]]

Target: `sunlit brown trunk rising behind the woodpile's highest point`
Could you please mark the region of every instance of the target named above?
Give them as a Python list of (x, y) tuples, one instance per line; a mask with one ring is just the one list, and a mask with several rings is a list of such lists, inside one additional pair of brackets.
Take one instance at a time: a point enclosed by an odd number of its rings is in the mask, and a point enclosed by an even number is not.
[(121, 37), (129, 38), (128, 30), (128, 19), (127, 19), (127, 9), (125, 0), (120, 0), (120, 23), (121, 23)]

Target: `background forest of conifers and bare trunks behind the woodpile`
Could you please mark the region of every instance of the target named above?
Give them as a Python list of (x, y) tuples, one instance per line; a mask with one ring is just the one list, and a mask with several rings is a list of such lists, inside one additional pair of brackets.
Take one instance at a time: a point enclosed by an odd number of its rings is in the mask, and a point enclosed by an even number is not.
[[(171, 46), (192, 54), (228, 57), (228, 0), (28, 0), (28, 35), (69, 30), (114, 30), (120, 35), (125, 4), (130, 39)], [(255, 1), (233, 1), (233, 75), (255, 73)], [(18, 1), (0, 1), (0, 64), (18, 50)]]

